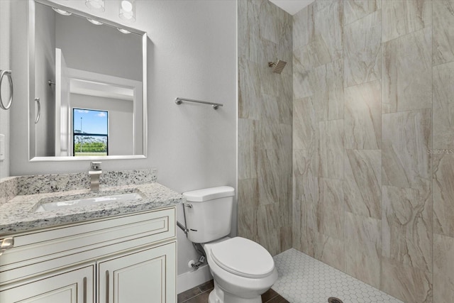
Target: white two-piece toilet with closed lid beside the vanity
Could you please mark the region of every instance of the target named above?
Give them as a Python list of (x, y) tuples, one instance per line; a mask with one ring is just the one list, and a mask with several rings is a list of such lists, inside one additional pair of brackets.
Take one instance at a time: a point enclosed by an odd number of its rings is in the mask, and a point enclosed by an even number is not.
[(214, 277), (209, 303), (261, 303), (260, 295), (276, 282), (277, 270), (272, 256), (260, 244), (228, 237), (235, 189), (211, 187), (183, 195), (187, 237), (201, 243)]

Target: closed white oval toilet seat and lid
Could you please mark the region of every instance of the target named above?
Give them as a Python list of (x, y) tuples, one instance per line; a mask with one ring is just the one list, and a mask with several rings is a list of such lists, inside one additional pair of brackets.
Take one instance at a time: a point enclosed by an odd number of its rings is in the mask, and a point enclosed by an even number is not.
[(241, 277), (267, 277), (275, 269), (275, 262), (265, 248), (241, 237), (214, 244), (211, 257), (219, 267)]

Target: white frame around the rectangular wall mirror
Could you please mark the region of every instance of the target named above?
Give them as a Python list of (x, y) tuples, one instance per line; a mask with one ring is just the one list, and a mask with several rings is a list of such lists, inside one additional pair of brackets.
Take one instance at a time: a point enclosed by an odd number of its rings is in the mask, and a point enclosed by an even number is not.
[[(142, 97), (143, 97), (143, 155), (106, 155), (106, 156), (50, 156), (50, 157), (37, 157), (35, 156), (35, 115), (31, 110), (35, 106), (35, 2), (47, 6), (55, 7), (55, 9), (62, 9), (82, 16), (84, 18), (91, 18), (100, 21), (106, 25), (121, 27), (126, 31), (142, 35)], [(135, 28), (124, 26), (123, 24), (114, 23), (113, 21), (106, 20), (92, 16), (89, 13), (70, 9), (66, 6), (50, 2), (47, 0), (28, 0), (28, 159), (30, 162), (48, 162), (48, 161), (89, 161), (89, 160), (128, 160), (128, 159), (145, 159), (147, 158), (147, 138), (148, 138), (148, 109), (147, 109), (147, 33)]]

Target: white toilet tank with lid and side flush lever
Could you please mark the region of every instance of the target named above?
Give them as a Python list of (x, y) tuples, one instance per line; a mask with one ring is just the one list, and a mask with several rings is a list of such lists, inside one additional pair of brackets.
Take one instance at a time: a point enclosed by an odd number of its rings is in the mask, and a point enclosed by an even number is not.
[(234, 195), (235, 189), (229, 186), (183, 193), (189, 241), (207, 243), (230, 233)]

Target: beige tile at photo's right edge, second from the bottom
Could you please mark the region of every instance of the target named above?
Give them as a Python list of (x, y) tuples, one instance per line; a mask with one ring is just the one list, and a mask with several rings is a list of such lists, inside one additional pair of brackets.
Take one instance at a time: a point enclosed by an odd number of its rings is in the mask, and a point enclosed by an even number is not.
[(433, 232), (454, 237), (454, 155), (433, 155)]

